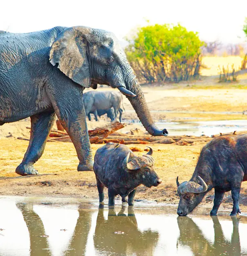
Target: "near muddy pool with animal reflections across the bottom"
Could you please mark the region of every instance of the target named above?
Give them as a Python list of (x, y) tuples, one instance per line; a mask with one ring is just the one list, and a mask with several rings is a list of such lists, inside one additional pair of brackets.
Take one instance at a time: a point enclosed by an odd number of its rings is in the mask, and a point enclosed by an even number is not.
[(117, 203), (0, 197), (0, 255), (247, 255), (245, 216), (198, 208), (177, 217), (172, 206)]

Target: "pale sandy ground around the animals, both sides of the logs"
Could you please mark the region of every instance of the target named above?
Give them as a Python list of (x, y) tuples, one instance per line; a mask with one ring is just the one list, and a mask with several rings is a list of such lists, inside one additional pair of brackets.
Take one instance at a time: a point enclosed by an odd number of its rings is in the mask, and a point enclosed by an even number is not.
[[(247, 109), (246, 90), (244, 89), (143, 89), (146, 100), (156, 120), (180, 120), (188, 118), (204, 120), (224, 119), (247, 119), (246, 115), (236, 113), (212, 114), (213, 112), (242, 112)], [(124, 97), (123, 113), (125, 120), (135, 119), (135, 113), (131, 112), (131, 105)], [(162, 110), (173, 110), (174, 112), (162, 112)], [(183, 112), (182, 112), (183, 111)], [(201, 113), (197, 113), (200, 111)], [(203, 112), (204, 111), (204, 112)], [(88, 121), (89, 129), (101, 126), (106, 121)], [(25, 196), (54, 196), (54, 197), (77, 197), (85, 199), (98, 199), (95, 176), (93, 172), (77, 172), (78, 159), (72, 143), (47, 142), (45, 152), (35, 164), (40, 175), (18, 176), (16, 167), (22, 161), (28, 146), (28, 141), (18, 140), (17, 137), (29, 137), (29, 119), (16, 123), (4, 124), (0, 127), (0, 194), (1, 195), (25, 195)], [(137, 124), (128, 124), (121, 132), (127, 132), (131, 128), (139, 127)], [(162, 178), (162, 184), (158, 187), (146, 188), (140, 186), (136, 194), (139, 200), (154, 200), (164, 203), (178, 203), (176, 195), (176, 177), (180, 182), (188, 181), (193, 174), (198, 156), (205, 142), (196, 143), (191, 146), (178, 146), (175, 144), (153, 144), (154, 158), (156, 160), (156, 171)], [(93, 153), (102, 144), (93, 144)], [(137, 146), (142, 155), (145, 145)], [(107, 189), (106, 198), (107, 198)], [(247, 212), (247, 183), (242, 184), (241, 208)], [(212, 193), (204, 199), (204, 204), (212, 204)], [(105, 200), (107, 202), (107, 199)], [(232, 208), (230, 194), (227, 193), (222, 207)]]

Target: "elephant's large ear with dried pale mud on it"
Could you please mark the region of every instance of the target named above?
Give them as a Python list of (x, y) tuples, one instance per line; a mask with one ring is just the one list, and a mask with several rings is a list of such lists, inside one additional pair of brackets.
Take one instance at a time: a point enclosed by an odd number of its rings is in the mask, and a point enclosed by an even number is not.
[(88, 27), (70, 27), (58, 34), (50, 50), (50, 62), (58, 63), (65, 75), (74, 82), (89, 88), (91, 85), (90, 63), (87, 56), (87, 37), (92, 33)]

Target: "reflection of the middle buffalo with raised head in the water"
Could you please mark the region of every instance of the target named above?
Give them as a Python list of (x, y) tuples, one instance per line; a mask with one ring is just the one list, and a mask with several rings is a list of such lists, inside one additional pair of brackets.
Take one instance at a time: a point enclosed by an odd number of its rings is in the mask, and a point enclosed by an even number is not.
[[(124, 214), (125, 209), (126, 206), (122, 206), (116, 215), (115, 209), (110, 208), (106, 220), (101, 206), (94, 233), (95, 250), (106, 255), (153, 255), (159, 233), (151, 230), (139, 231), (132, 207), (128, 207), (128, 215)], [(116, 231), (124, 233), (116, 234)]]

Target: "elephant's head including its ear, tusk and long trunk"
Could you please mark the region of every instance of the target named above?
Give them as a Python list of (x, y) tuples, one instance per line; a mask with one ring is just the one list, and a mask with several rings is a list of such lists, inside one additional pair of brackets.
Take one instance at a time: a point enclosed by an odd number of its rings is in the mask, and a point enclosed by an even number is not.
[(83, 87), (110, 85), (126, 95), (141, 123), (153, 136), (168, 135), (155, 126), (141, 87), (114, 34), (90, 27), (70, 27), (52, 43), (50, 62)]

